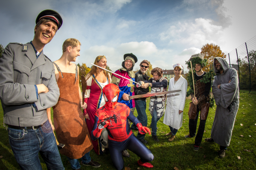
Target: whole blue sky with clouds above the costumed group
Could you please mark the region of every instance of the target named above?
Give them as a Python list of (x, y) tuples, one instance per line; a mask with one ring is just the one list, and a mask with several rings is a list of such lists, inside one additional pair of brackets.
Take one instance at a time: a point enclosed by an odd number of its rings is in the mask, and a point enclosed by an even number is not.
[(133, 53), (154, 67), (173, 69), (206, 43), (227, 54), (256, 35), (255, 0), (6, 0), (0, 6), (0, 44), (33, 39), (40, 11), (54, 9), (63, 25), (44, 54), (61, 57), (67, 38), (81, 42), (76, 63), (94, 62), (105, 55), (115, 71), (123, 55)]

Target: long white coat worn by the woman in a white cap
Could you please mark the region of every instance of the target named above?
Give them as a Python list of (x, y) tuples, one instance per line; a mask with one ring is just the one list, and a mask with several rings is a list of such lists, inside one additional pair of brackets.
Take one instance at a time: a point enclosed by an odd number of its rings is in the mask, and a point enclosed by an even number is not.
[(165, 125), (175, 129), (180, 129), (182, 126), (183, 112), (179, 114), (179, 110), (183, 111), (185, 107), (187, 87), (188, 83), (182, 76), (180, 76), (175, 85), (174, 78), (170, 79), (168, 91), (181, 91), (167, 95), (166, 111), (163, 118)]

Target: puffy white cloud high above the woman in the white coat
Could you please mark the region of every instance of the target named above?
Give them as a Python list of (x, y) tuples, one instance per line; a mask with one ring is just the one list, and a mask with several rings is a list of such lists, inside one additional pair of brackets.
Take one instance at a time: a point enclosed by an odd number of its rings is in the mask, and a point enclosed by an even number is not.
[(160, 34), (160, 40), (169, 40), (170, 44), (187, 44), (201, 47), (206, 43), (217, 43), (223, 35), (222, 26), (216, 26), (210, 19), (197, 18), (195, 22), (177, 23)]

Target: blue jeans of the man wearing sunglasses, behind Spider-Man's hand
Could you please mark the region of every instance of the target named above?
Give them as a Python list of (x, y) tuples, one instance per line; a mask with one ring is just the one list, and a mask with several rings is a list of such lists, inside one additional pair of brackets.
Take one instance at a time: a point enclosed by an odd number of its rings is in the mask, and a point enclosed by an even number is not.
[[(146, 114), (146, 108), (147, 108), (146, 100), (135, 100), (135, 108), (136, 108), (137, 113), (138, 113), (137, 119), (139, 119), (142, 126), (147, 127), (147, 125), (148, 125), (148, 116)], [(138, 133), (137, 138), (142, 140), (142, 139), (144, 139), (145, 135), (146, 134), (142, 135), (142, 134)]]

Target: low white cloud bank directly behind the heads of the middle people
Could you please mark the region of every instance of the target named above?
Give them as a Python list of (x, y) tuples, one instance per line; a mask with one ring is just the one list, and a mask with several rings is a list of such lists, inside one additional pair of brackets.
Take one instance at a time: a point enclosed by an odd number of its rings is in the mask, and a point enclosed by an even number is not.
[(94, 62), (95, 58), (99, 55), (105, 55), (108, 61), (109, 67), (116, 71), (121, 68), (123, 62), (123, 55), (127, 53), (133, 53), (137, 56), (138, 62), (135, 64), (135, 68), (143, 59), (151, 61), (153, 68), (160, 67), (171, 69), (172, 62), (177, 62), (180, 57), (172, 57), (172, 50), (161, 49), (158, 50), (153, 42), (128, 42), (117, 45), (115, 48), (105, 45), (95, 45), (86, 49), (81, 57), (78, 57), (76, 63), (86, 63), (90, 66), (91, 62)]

